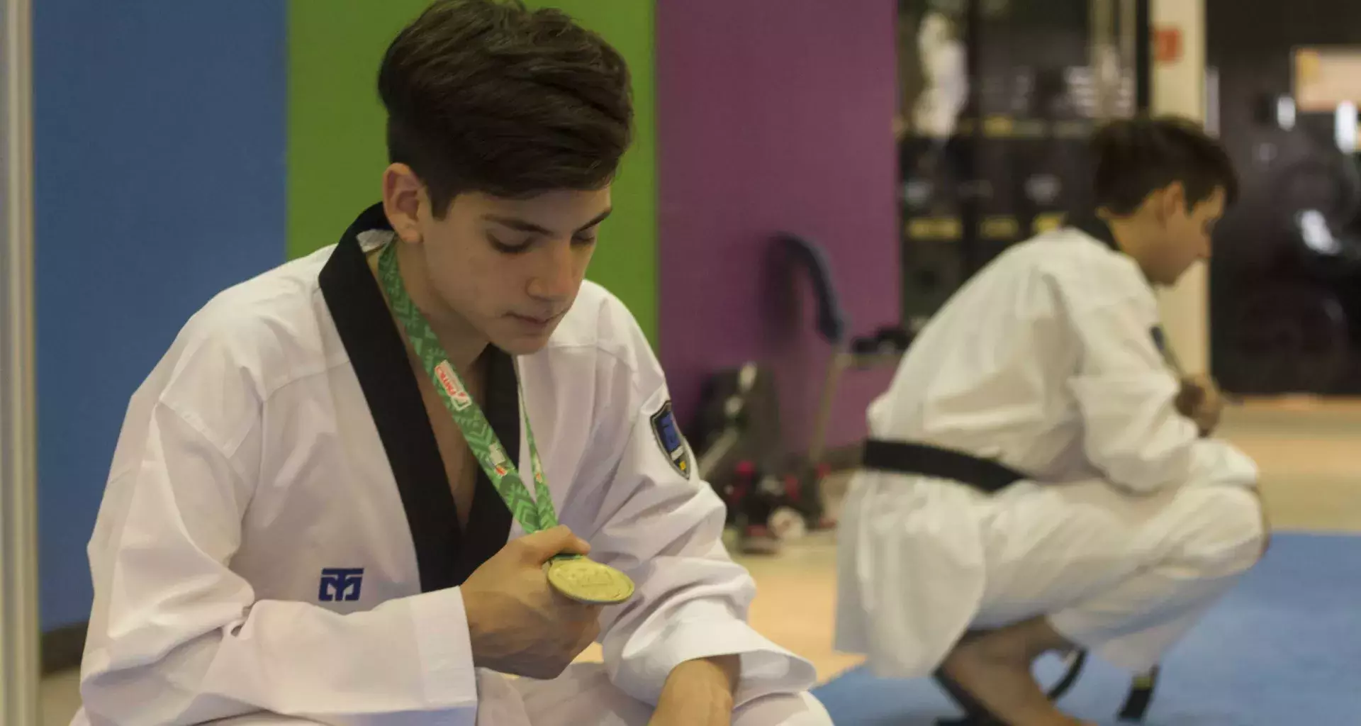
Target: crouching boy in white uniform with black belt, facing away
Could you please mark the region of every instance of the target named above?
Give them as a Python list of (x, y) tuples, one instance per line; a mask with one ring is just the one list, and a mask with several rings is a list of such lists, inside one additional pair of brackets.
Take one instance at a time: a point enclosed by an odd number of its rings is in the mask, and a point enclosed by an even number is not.
[(1213, 437), (1213, 383), (1160, 350), (1154, 298), (1209, 256), (1232, 165), (1176, 120), (1113, 123), (1094, 153), (1096, 212), (974, 275), (871, 405), (838, 533), (838, 646), (1013, 726), (1077, 723), (1037, 657), (1154, 666), (1267, 537), (1256, 467)]

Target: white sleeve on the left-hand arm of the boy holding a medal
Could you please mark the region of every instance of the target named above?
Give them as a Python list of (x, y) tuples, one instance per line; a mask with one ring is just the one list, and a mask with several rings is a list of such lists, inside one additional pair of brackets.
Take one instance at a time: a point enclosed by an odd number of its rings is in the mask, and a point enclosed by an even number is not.
[[(222, 407), (248, 407), (230, 376), (195, 383)], [(343, 726), (440, 714), (471, 726), (476, 688), (457, 588), (338, 614), (257, 601), (231, 571), (259, 486), (260, 425), (225, 452), (203, 424), (211, 415), (177, 411), (155, 391), (133, 398), (88, 549), (88, 721), (170, 726), (267, 711)]]

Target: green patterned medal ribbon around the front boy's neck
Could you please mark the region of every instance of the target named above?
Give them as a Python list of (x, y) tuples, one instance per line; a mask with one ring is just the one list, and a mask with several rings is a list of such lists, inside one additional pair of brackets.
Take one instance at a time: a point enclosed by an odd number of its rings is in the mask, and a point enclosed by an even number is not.
[(449, 364), (449, 357), (440, 345), (440, 339), (421, 311), (411, 302), (407, 289), (401, 285), (401, 274), (397, 270), (397, 241), (393, 240), (378, 257), (378, 278), (388, 293), (388, 304), (392, 315), (401, 321), (411, 339), (421, 365), (434, 383), (434, 390), (440, 394), (440, 400), (453, 417), (463, 432), (463, 440), (468, 443), (482, 470), (487, 473), (491, 485), (505, 500), (516, 522), (524, 527), (525, 534), (547, 530), (558, 526), (558, 515), (553, 511), (553, 494), (548, 493), (548, 484), (543, 478), (543, 464), (539, 463), (539, 449), (534, 445), (534, 430), (529, 428), (529, 413), (524, 407), (524, 395), (520, 391), (520, 415), (524, 421), (525, 439), (529, 440), (529, 466), (534, 467), (534, 490), (525, 488), (520, 478), (520, 471), (514, 466), (513, 456), (501, 445), (497, 432), (491, 430), (487, 417), (482, 409), (468, 395), (468, 388), (463, 379)]

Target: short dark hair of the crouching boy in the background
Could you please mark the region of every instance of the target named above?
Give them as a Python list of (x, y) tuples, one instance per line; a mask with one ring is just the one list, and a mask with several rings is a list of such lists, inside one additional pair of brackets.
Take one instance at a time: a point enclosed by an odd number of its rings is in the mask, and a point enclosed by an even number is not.
[(1199, 124), (1176, 116), (1111, 121), (1092, 138), (1097, 207), (1130, 214), (1157, 189), (1180, 181), (1187, 211), (1222, 188), (1225, 204), (1239, 198), (1239, 177), (1219, 142)]

